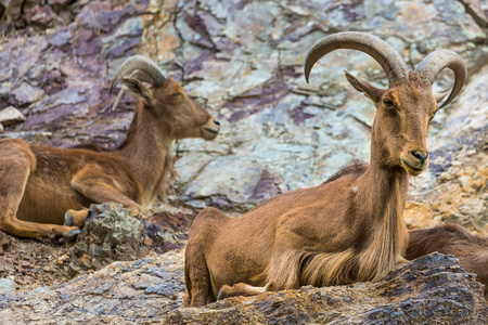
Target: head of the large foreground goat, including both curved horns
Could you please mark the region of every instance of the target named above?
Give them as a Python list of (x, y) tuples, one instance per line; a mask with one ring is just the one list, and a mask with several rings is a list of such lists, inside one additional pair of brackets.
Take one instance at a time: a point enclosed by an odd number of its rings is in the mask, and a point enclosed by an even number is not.
[(437, 103), (447, 94), (434, 94), (432, 84), (442, 69), (452, 69), (454, 86), (440, 107), (451, 102), (466, 79), (463, 60), (455, 52), (438, 50), (409, 73), (401, 56), (380, 38), (358, 31), (338, 32), (323, 38), (308, 52), (305, 62), (307, 82), (313, 64), (337, 49), (359, 50), (371, 55), (388, 77), (388, 89), (380, 89), (346, 72), (349, 83), (377, 108), (372, 128), (372, 151), (377, 146), (381, 157), (375, 159), (383, 166), (401, 166), (411, 176), (420, 174), (428, 166), (427, 125), (438, 109)]

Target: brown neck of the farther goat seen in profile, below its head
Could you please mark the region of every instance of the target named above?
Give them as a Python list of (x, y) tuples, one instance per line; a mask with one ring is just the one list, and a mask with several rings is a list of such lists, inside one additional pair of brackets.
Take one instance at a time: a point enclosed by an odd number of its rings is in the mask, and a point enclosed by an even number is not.
[(142, 206), (149, 206), (162, 191), (163, 183), (169, 181), (172, 141), (140, 101), (127, 138), (116, 154), (141, 183)]

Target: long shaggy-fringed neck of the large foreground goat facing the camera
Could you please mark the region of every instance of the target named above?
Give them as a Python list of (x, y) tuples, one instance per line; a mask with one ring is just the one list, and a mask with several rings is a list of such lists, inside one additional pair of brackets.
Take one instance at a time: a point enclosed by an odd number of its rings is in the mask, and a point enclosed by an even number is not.
[(361, 226), (369, 233), (359, 260), (359, 273), (364, 277), (370, 274), (373, 281), (378, 281), (406, 262), (408, 231), (403, 209), (409, 177), (401, 167), (380, 165), (374, 154), (372, 152), (370, 167), (358, 179), (356, 206), (365, 218)]

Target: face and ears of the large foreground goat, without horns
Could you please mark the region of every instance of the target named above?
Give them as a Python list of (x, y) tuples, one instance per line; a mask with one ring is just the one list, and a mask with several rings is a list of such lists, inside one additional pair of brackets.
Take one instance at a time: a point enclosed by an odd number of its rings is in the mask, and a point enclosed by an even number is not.
[(428, 166), (426, 145), (428, 122), (437, 110), (432, 86), (421, 82), (415, 73), (400, 79), (388, 89), (378, 89), (347, 74), (357, 90), (373, 101), (376, 116), (373, 122), (373, 142), (382, 154), (383, 166), (401, 166), (411, 176), (419, 176)]

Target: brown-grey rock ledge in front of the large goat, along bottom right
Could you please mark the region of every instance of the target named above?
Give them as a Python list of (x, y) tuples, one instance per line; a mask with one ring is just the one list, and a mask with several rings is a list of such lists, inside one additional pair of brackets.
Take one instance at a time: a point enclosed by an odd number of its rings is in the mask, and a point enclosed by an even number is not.
[(179, 309), (165, 324), (485, 324), (481, 285), (439, 253), (419, 258), (376, 284), (266, 292), (202, 309)]

